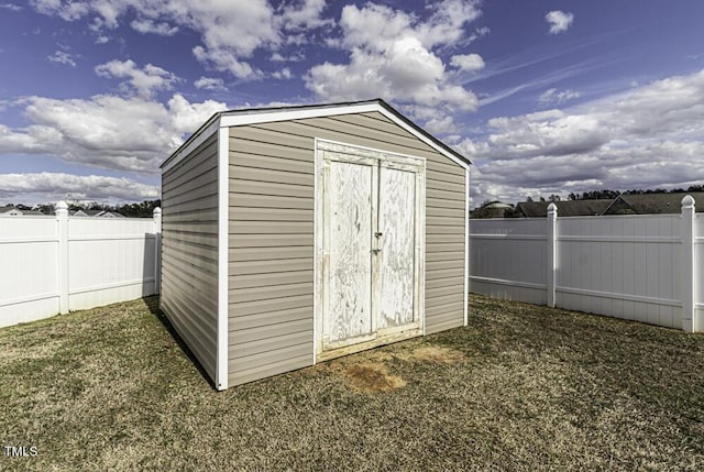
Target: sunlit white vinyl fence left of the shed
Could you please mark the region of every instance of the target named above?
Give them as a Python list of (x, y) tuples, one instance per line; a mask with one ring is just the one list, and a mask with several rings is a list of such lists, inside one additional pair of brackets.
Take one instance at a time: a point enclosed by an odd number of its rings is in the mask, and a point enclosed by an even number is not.
[(157, 294), (161, 219), (0, 217), (0, 327)]

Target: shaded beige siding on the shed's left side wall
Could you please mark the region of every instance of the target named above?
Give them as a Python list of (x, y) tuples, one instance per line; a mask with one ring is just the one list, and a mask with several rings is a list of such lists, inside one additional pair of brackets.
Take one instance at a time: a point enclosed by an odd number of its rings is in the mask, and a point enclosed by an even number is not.
[(216, 376), (218, 142), (208, 139), (162, 175), (161, 307), (208, 375)]

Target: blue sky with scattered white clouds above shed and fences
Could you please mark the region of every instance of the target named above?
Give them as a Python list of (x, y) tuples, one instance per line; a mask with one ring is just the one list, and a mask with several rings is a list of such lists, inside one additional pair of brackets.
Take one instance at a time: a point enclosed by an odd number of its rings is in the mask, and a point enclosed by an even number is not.
[(381, 97), (473, 205), (704, 184), (701, 0), (0, 0), (0, 204), (158, 198), (213, 112)]

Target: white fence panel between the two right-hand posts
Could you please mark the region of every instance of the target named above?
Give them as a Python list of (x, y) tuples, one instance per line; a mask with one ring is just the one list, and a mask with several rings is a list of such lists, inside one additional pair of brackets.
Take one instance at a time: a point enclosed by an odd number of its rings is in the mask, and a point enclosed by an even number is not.
[(680, 216), (558, 220), (557, 305), (682, 326)]

